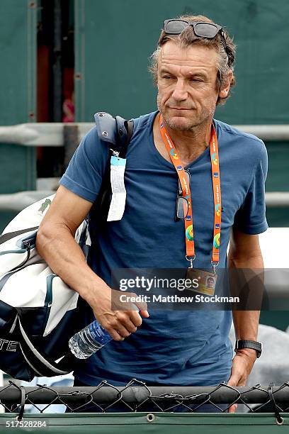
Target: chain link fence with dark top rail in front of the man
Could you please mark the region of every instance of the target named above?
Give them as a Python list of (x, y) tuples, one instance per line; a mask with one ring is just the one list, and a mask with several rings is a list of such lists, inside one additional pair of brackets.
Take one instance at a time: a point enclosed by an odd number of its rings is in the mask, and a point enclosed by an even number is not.
[[(18, 386), (10, 381), (0, 388), (0, 405), (6, 413), (23, 418), (26, 404), (43, 413), (52, 404), (64, 404), (68, 413), (79, 412), (227, 412), (233, 404), (242, 404), (249, 413), (273, 412), (276, 423), (283, 424), (280, 413), (289, 410), (289, 382), (282, 386), (147, 386), (132, 379), (126, 386), (106, 381), (98, 386), (48, 387)], [(38, 407), (38, 404), (46, 404)], [(208, 410), (209, 408), (209, 410)]]

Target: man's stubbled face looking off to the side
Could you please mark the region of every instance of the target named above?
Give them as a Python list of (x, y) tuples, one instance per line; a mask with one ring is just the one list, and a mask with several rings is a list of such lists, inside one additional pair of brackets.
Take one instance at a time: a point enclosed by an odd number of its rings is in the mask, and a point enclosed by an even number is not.
[[(189, 130), (212, 118), (217, 96), (217, 52), (169, 40), (159, 54), (157, 105), (169, 127)], [(221, 95), (220, 95), (221, 96)]]

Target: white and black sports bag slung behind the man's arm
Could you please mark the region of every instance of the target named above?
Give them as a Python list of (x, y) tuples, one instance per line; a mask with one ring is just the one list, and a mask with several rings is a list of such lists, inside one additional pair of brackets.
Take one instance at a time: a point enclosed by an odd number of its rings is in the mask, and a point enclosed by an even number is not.
[[(79, 294), (35, 248), (38, 226), (53, 198), (23, 209), (0, 237), (0, 368), (17, 379), (71, 372), (67, 343), (81, 329), (75, 321)], [(86, 221), (75, 240), (87, 255), (91, 240)]]

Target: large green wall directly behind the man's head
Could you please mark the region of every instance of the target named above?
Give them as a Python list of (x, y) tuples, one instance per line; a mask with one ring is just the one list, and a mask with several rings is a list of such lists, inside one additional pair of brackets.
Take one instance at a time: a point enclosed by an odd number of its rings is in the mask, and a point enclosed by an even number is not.
[[(288, 0), (75, 0), (77, 120), (96, 111), (125, 118), (156, 109), (147, 72), (162, 23), (183, 13), (205, 14), (237, 44), (237, 86), (216, 118), (231, 124), (289, 123)], [(289, 191), (288, 143), (266, 143), (267, 191)], [(288, 208), (268, 208), (269, 226), (289, 226)]]

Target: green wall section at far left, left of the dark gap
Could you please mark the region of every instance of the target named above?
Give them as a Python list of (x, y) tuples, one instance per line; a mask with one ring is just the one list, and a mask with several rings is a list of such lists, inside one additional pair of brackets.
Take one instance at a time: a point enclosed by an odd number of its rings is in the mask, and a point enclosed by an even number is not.
[[(36, 6), (1, 0), (0, 126), (35, 121)], [(35, 179), (35, 149), (0, 143), (0, 194), (35, 189)], [(12, 217), (0, 211), (0, 229)]]

